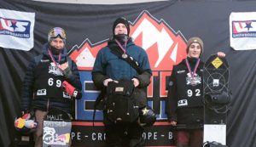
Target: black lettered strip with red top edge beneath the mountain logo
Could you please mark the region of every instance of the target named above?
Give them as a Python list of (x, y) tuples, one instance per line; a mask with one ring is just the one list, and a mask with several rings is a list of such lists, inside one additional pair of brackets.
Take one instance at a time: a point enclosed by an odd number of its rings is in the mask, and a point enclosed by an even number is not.
[[(73, 146), (97, 146), (104, 147), (106, 133), (102, 122), (72, 122)], [(146, 127), (143, 133), (145, 146), (172, 147), (173, 133), (167, 122), (156, 122), (153, 127)], [(173, 146), (174, 147), (174, 146)]]

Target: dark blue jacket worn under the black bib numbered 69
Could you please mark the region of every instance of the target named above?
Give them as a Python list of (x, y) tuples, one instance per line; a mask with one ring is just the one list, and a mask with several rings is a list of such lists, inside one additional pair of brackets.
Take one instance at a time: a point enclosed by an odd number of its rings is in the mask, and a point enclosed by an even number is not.
[[(44, 59), (50, 59), (49, 53), (48, 53), (49, 44), (45, 43), (42, 51), (42, 58)], [(54, 56), (55, 57), (55, 56)], [(58, 56), (55, 57), (55, 60), (58, 61)], [(60, 63), (64, 63), (67, 61), (67, 49), (64, 48), (61, 54), (61, 61)], [(65, 110), (67, 113), (72, 112), (72, 103), (69, 99), (55, 99), (55, 98), (42, 98), (42, 99), (34, 99), (34, 94), (37, 93), (35, 91), (37, 77), (35, 76), (35, 70), (38, 65), (38, 61), (36, 61), (36, 58), (32, 59), (30, 64), (28, 65), (26, 76), (23, 81), (23, 87), (21, 92), (21, 110), (50, 110), (50, 109), (61, 109)], [(81, 90), (82, 85), (79, 78), (79, 71), (77, 68), (77, 65), (72, 61), (71, 71), (72, 75), (66, 76), (64, 75), (64, 79), (69, 82), (73, 87)]]

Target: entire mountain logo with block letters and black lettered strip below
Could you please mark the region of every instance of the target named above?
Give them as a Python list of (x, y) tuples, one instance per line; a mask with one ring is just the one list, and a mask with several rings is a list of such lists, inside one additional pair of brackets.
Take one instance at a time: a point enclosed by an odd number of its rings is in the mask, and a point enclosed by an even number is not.
[[(155, 18), (147, 10), (138, 14), (137, 19), (130, 20), (130, 35), (134, 42), (142, 47), (148, 54), (149, 63), (152, 69), (151, 83), (148, 86), (148, 105), (154, 109), (157, 122), (165, 125), (154, 125), (148, 127), (143, 134), (147, 143), (152, 146), (172, 145), (172, 131), (170, 124), (166, 122), (166, 81), (172, 73), (172, 66), (177, 65), (186, 57), (186, 39), (181, 31), (175, 31), (165, 20)], [(100, 91), (92, 82), (91, 70), (93, 68), (96, 54), (107, 46), (108, 40), (102, 40), (95, 44), (90, 38), (84, 38), (80, 45), (74, 45), (69, 56), (76, 62), (79, 68), (80, 80), (83, 85), (83, 98), (76, 100), (75, 119), (84, 121), (83, 125), (73, 126), (73, 144), (97, 144), (104, 143), (105, 134), (103, 126), (91, 127), (93, 121), (94, 104)], [(168, 64), (166, 64), (168, 63)], [(96, 122), (102, 122), (101, 110), (96, 110)], [(77, 133), (79, 131), (79, 134)], [(78, 136), (79, 135), (79, 136)], [(79, 139), (77, 139), (79, 138)], [(90, 146), (90, 145), (89, 145)]]

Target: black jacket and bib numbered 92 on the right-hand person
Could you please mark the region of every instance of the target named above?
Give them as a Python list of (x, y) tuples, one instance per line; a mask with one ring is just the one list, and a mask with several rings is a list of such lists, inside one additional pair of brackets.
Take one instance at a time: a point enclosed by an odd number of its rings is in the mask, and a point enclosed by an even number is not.
[[(189, 59), (191, 71), (194, 71), (197, 59)], [(166, 114), (168, 121), (177, 124), (203, 123), (203, 62), (200, 61), (191, 78), (186, 60), (173, 66), (172, 75), (168, 82)]]

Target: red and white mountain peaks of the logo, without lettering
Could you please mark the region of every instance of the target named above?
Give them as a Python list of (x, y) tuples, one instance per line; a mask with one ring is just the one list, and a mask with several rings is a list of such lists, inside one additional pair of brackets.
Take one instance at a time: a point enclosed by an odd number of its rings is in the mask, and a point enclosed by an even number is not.
[[(130, 22), (131, 23), (131, 22)], [(180, 31), (174, 31), (165, 20), (157, 20), (148, 11), (143, 11), (130, 25), (134, 42), (144, 48), (152, 71), (172, 71), (186, 57), (186, 42)], [(97, 52), (107, 45), (108, 40), (91, 44), (88, 39), (70, 51), (70, 57), (80, 71), (90, 71)]]

